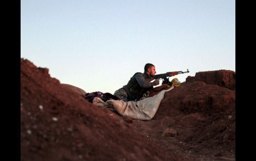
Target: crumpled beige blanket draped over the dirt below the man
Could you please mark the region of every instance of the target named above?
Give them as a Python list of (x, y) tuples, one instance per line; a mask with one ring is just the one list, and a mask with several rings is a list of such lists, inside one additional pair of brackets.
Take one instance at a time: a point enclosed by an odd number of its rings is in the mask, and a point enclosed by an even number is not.
[(108, 100), (106, 102), (102, 101), (100, 98), (95, 98), (93, 104), (97, 106), (104, 106), (112, 111), (118, 112), (121, 116), (129, 116), (132, 119), (151, 120), (164, 98), (165, 92), (172, 90), (171, 87), (168, 90), (163, 90), (159, 94), (148, 97), (140, 101), (128, 101), (124, 102), (122, 100)]

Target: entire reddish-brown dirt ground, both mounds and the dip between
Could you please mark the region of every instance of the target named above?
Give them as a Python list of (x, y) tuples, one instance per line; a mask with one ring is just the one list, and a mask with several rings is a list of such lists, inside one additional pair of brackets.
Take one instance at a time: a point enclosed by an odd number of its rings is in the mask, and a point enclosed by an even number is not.
[(22, 161), (235, 160), (234, 71), (189, 76), (151, 121), (121, 117), (81, 94), (21, 58)]

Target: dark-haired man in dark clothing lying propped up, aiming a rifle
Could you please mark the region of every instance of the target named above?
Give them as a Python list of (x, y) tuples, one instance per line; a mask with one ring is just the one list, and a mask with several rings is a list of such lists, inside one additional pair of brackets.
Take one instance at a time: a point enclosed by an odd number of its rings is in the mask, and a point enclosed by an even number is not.
[(144, 67), (144, 73), (135, 73), (127, 85), (115, 91), (114, 96), (123, 101), (139, 100), (145, 92), (159, 85), (159, 79), (154, 82), (147, 82), (145, 79), (151, 78), (156, 74), (156, 68), (153, 64), (147, 63)]

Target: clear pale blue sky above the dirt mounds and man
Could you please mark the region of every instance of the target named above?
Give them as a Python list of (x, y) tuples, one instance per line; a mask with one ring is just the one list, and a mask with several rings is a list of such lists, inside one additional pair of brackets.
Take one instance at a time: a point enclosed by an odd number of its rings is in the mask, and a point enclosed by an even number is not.
[(21, 0), (21, 58), (87, 93), (114, 94), (146, 63), (189, 69), (181, 82), (235, 71), (235, 0)]

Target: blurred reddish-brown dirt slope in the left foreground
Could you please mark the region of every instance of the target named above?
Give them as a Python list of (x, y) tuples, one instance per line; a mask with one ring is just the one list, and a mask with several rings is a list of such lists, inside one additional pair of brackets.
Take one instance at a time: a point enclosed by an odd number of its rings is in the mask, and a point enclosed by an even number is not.
[(121, 116), (21, 59), (21, 160), (184, 160), (165, 154)]

